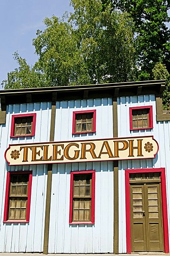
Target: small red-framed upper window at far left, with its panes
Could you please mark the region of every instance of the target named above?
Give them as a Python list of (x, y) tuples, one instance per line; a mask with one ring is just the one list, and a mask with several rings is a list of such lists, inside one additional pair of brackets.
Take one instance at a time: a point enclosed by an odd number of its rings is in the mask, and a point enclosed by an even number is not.
[(36, 114), (12, 115), (11, 137), (33, 136), (36, 128)]

